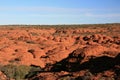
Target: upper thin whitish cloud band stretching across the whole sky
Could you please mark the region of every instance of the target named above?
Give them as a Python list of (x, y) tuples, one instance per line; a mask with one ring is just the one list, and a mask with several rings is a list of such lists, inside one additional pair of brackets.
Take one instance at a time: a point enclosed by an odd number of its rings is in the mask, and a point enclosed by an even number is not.
[(89, 12), (89, 11), (120, 11), (116, 8), (62, 8), (62, 7), (44, 7), (44, 6), (19, 6), (5, 7), (0, 6), (0, 11), (65, 11), (65, 12)]

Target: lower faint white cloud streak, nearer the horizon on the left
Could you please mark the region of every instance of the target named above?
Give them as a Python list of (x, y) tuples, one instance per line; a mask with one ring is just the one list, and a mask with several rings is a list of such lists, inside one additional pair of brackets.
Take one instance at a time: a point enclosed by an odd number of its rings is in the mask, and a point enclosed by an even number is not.
[(83, 17), (83, 15), (75, 15), (75, 14), (10, 14), (10, 15), (5, 15), (5, 14), (0, 14), (1, 18), (5, 19), (21, 19), (21, 18), (40, 18), (40, 19), (80, 19)]

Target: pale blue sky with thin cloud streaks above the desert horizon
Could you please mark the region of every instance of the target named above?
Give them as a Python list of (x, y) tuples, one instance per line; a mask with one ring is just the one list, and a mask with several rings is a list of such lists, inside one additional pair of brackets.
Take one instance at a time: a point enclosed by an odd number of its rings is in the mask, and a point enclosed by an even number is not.
[(120, 0), (0, 0), (0, 24), (119, 23)]

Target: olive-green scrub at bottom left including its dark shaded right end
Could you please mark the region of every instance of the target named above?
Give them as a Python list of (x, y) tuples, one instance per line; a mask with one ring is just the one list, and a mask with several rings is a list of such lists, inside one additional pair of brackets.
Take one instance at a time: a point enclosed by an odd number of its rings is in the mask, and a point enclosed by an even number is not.
[(41, 68), (25, 65), (5, 65), (1, 66), (0, 70), (9, 78), (15, 80), (24, 80), (25, 78), (36, 75)]

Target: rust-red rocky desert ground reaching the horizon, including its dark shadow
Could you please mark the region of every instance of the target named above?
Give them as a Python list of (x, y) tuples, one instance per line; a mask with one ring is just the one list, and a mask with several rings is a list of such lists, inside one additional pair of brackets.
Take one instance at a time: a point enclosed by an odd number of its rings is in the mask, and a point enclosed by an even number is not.
[(0, 64), (43, 69), (29, 80), (120, 80), (120, 24), (61, 26), (1, 26)]

